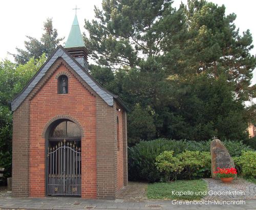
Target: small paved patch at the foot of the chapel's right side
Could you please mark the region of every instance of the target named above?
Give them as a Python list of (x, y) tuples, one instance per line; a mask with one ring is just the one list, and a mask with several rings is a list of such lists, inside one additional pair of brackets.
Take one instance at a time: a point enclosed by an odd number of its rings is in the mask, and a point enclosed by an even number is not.
[(117, 199), (129, 201), (142, 201), (146, 198), (147, 183), (129, 181), (127, 186), (124, 186), (118, 192)]

